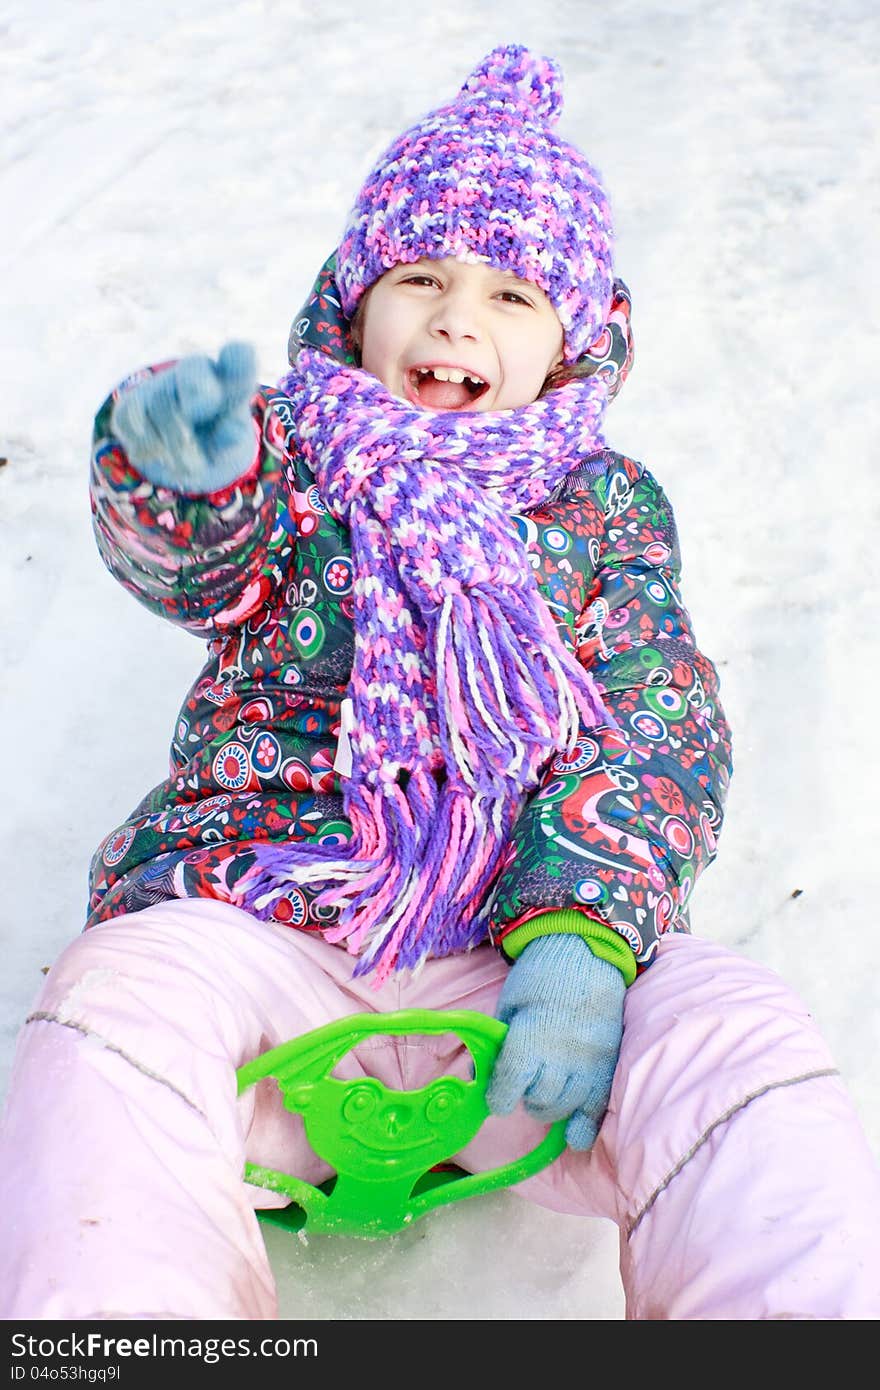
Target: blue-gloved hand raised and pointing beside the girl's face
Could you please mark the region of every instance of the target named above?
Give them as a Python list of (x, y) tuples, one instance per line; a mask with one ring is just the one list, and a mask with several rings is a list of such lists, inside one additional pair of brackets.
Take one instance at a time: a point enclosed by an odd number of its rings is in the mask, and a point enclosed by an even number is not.
[(217, 492), (253, 461), (256, 374), (247, 343), (227, 343), (217, 361), (182, 357), (120, 396), (113, 432), (150, 482), (174, 492)]

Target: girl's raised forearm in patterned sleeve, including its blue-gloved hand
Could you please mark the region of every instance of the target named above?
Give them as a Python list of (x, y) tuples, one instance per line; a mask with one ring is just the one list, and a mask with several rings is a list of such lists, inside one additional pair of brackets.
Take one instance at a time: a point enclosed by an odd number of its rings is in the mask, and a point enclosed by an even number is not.
[(129, 592), (192, 632), (242, 623), (264, 600), (278, 456), (263, 436), (250, 348), (185, 357), (125, 381), (95, 424), (99, 552)]

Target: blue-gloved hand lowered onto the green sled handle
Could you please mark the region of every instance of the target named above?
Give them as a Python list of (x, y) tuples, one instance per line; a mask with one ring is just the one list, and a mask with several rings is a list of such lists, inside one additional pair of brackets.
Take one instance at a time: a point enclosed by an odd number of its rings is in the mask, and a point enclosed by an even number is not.
[(523, 1101), (548, 1125), (571, 1116), (570, 1148), (589, 1148), (612, 1091), (626, 988), (617, 966), (578, 935), (530, 941), (495, 1011), (507, 1036), (487, 1088), (489, 1111), (509, 1115)]

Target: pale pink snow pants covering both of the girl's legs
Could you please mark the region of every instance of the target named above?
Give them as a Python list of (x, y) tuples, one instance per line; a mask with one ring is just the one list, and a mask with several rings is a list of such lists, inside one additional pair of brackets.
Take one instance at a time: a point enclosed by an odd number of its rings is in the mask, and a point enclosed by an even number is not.
[[(327, 1175), (274, 1083), (235, 1069), (346, 1013), (494, 1012), (491, 947), (381, 990), (323, 938), (220, 902), (160, 903), (78, 937), (22, 1029), (3, 1133), (0, 1316), (274, 1319), (245, 1159)], [(345, 1074), (398, 1088), (467, 1074), (453, 1037), (375, 1037)], [(542, 1129), (489, 1120), (495, 1166)], [(513, 1188), (620, 1229), (633, 1319), (876, 1319), (880, 1170), (804, 1004), (770, 972), (665, 940), (627, 991), (610, 1106), (589, 1154)]]

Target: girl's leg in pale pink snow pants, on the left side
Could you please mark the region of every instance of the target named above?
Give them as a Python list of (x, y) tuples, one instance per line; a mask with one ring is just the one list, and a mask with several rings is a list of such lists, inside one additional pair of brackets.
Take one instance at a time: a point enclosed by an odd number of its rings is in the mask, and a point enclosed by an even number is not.
[(236, 1099), (235, 1068), (332, 1017), (396, 1008), (350, 972), (339, 948), (218, 902), (76, 938), (22, 1030), (0, 1133), (0, 1316), (277, 1316), (241, 1180), (249, 1129), (249, 1158), (282, 1150), (285, 1170), (323, 1173), (291, 1138), (298, 1118), (279, 1138), (266, 1091)]

